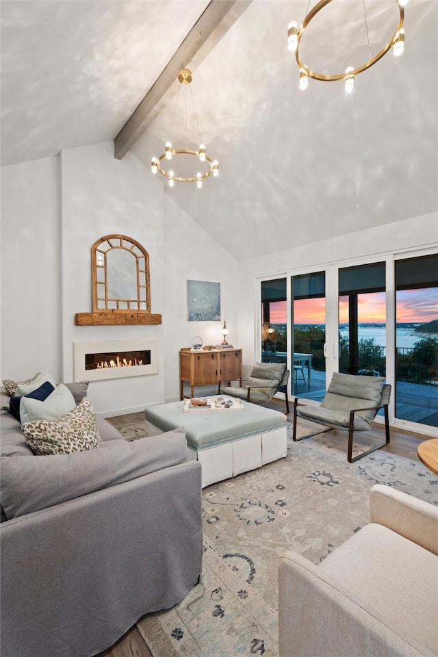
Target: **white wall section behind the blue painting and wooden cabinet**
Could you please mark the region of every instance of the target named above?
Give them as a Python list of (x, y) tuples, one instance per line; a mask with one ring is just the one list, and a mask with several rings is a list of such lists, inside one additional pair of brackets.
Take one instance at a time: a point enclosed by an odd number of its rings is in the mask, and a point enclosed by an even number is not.
[[(190, 347), (192, 337), (200, 335), (203, 344), (219, 344), (220, 329), (227, 320), (228, 342), (240, 346), (237, 339), (240, 291), (235, 258), (166, 195), (164, 245), (165, 378), (166, 400), (170, 401), (179, 399), (179, 350)], [(220, 322), (188, 322), (188, 280), (220, 283)]]

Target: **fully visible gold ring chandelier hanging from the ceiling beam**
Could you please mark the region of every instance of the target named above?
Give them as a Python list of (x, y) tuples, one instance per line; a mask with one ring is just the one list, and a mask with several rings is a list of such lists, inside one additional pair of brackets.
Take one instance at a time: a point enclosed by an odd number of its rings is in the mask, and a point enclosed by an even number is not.
[[(196, 185), (199, 189), (203, 186), (203, 180), (205, 178), (208, 178), (211, 174), (214, 175), (214, 177), (218, 176), (219, 174), (219, 164), (218, 161), (211, 160), (210, 157), (207, 155), (205, 152), (205, 145), (202, 143), (201, 140), (201, 133), (199, 132), (199, 125), (198, 125), (198, 118), (196, 116), (196, 109), (194, 106), (194, 100), (193, 100), (193, 95), (192, 95), (192, 89), (190, 88), (190, 82), (192, 81), (192, 71), (190, 71), (188, 68), (182, 68), (179, 71), (178, 75), (178, 80), (181, 83), (181, 86), (178, 88), (178, 93), (177, 97), (175, 99), (175, 108), (173, 110), (172, 114), (172, 123), (170, 124), (170, 130), (169, 130), (169, 138), (168, 141), (166, 142), (165, 148), (164, 148), (164, 153), (160, 155), (159, 157), (153, 157), (152, 162), (151, 162), (151, 171), (155, 174), (157, 171), (159, 171), (164, 177), (168, 179), (169, 186), (173, 187), (175, 185), (175, 180), (181, 181), (184, 183), (194, 183), (196, 182)], [(179, 98), (179, 92), (181, 88), (185, 88), (185, 142), (186, 142), (186, 147), (185, 149), (174, 149), (172, 147), (172, 143), (170, 142), (171, 136), (172, 136), (172, 125), (173, 125), (173, 119), (175, 117), (175, 112), (177, 110), (177, 104), (178, 104), (178, 98)], [(187, 90), (188, 88), (190, 89), (190, 96), (192, 99), (192, 105), (193, 105), (193, 111), (194, 111), (194, 118), (196, 119), (196, 126), (198, 128), (198, 140), (199, 140), (199, 148), (198, 149), (189, 149), (188, 148), (188, 121), (187, 121)], [(181, 158), (179, 157), (180, 155), (190, 155), (190, 168), (192, 168), (192, 172), (190, 172), (190, 169), (187, 169), (188, 165), (188, 158), (185, 158), (185, 168), (183, 168), (181, 165), (183, 164), (181, 162)], [(177, 157), (175, 157), (177, 156)], [(195, 162), (195, 159), (197, 162)], [(174, 161), (175, 164), (172, 165), (172, 160)], [(175, 172), (177, 168), (177, 160), (179, 160), (180, 163), (180, 168), (183, 168), (183, 171)], [(195, 168), (195, 164), (198, 164)], [(173, 166), (173, 168), (172, 168)], [(196, 169), (201, 169), (196, 171)], [(185, 175), (183, 175), (185, 174)]]

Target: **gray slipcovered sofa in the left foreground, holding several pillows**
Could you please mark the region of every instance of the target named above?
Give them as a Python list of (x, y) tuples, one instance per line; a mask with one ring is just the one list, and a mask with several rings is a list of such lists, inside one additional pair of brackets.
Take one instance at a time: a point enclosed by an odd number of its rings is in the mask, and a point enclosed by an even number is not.
[(201, 574), (201, 465), (184, 431), (127, 442), (96, 425), (101, 448), (36, 456), (1, 412), (2, 657), (95, 655)]

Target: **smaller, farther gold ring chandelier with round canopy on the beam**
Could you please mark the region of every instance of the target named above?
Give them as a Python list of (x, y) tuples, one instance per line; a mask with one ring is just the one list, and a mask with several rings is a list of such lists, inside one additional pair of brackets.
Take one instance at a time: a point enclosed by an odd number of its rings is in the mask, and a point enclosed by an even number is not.
[[(186, 129), (186, 142), (187, 142), (187, 86), (190, 85), (190, 82), (192, 81), (192, 71), (190, 71), (188, 68), (182, 68), (179, 71), (178, 75), (178, 80), (181, 83), (181, 86), (185, 86), (185, 91), (186, 91), (186, 98), (185, 98), (185, 129)], [(201, 134), (199, 133), (199, 125), (198, 125), (198, 118), (196, 116), (196, 109), (194, 107), (194, 101), (193, 101), (193, 96), (192, 96), (192, 90), (190, 89), (190, 94), (192, 97), (192, 105), (193, 105), (193, 110), (194, 110), (194, 116), (196, 118), (196, 125), (198, 126), (198, 138), (200, 142), (199, 148), (196, 149), (174, 149), (172, 148), (172, 143), (170, 142), (170, 136), (172, 133), (172, 124), (173, 124), (173, 118), (175, 116), (175, 111), (177, 109), (177, 103), (178, 103), (178, 96), (179, 96), (179, 91), (181, 90), (181, 87), (178, 89), (177, 93), (177, 98), (175, 99), (175, 108), (173, 111), (172, 115), (172, 123), (170, 125), (170, 131), (169, 131), (169, 140), (166, 142), (166, 146), (164, 149), (164, 153), (160, 155), (159, 157), (153, 157), (152, 162), (151, 162), (151, 171), (155, 174), (157, 171), (159, 171), (164, 177), (166, 177), (169, 181), (169, 186), (173, 187), (175, 185), (175, 181), (181, 181), (184, 183), (194, 183), (196, 182), (196, 185), (198, 186), (199, 189), (203, 186), (203, 180), (205, 178), (208, 178), (211, 174), (214, 175), (214, 177), (218, 176), (219, 174), (219, 164), (218, 161), (211, 160), (211, 158), (205, 153), (205, 146), (204, 144), (201, 143)], [(196, 172), (196, 174), (193, 175), (188, 175), (188, 176), (183, 176), (183, 175), (176, 175), (175, 171), (172, 168), (166, 168), (163, 165), (166, 165), (170, 160), (173, 159), (174, 155), (190, 155), (192, 158), (196, 157), (198, 159), (198, 162), (201, 163), (201, 166), (199, 168), (202, 168), (203, 170)], [(170, 165), (171, 166), (171, 165)]]

